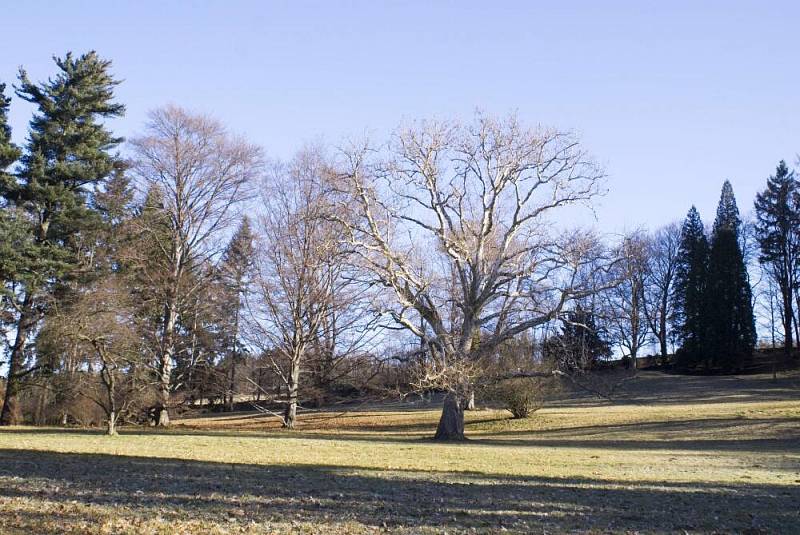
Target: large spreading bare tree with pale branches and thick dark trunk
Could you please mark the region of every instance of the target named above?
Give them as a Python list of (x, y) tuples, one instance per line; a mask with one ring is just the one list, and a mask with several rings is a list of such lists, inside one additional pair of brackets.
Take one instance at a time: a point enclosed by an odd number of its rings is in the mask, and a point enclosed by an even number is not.
[(342, 238), (389, 290), (382, 312), (423, 341), (416, 386), (448, 393), (436, 438), (463, 439), (481, 355), (596, 291), (576, 285), (591, 238), (554, 236), (550, 216), (597, 195), (602, 171), (571, 134), (483, 114), (344, 160), (339, 194), (358, 217), (340, 221)]

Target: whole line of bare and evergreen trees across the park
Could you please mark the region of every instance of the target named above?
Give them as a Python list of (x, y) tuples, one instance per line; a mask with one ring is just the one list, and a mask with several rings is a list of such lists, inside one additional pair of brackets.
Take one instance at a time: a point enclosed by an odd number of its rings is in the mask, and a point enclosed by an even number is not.
[(113, 433), (246, 403), (292, 428), (303, 404), (440, 392), (437, 437), (457, 439), (498, 385), (580, 380), (614, 355), (635, 367), (652, 346), (741, 370), (762, 309), (787, 356), (799, 337), (800, 189), (783, 162), (752, 224), (725, 182), (710, 236), (692, 208), (613, 239), (559, 225), (605, 178), (570, 132), (477, 113), (275, 162), (166, 106), (123, 145), (111, 62), (55, 65), (40, 83), (20, 70), (23, 146), (0, 84), (3, 425), (100, 411)]

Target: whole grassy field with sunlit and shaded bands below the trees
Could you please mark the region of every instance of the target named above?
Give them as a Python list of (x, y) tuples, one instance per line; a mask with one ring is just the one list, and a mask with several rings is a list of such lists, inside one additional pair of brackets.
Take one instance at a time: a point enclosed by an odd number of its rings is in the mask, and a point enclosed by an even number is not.
[(640, 373), (527, 420), (387, 405), (0, 431), (2, 533), (800, 533), (800, 376)]

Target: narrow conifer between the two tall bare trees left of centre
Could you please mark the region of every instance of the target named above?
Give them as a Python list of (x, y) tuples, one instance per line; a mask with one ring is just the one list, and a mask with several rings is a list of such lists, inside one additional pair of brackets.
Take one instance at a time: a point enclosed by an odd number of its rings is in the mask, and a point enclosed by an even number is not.
[(241, 357), (240, 336), (240, 316), (243, 306), (243, 299), (249, 285), (254, 265), (254, 245), (255, 236), (250, 227), (250, 220), (245, 217), (239, 225), (239, 229), (234, 234), (223, 255), (222, 276), (226, 290), (226, 301), (228, 310), (231, 314), (230, 332), (227, 338), (228, 343), (228, 410), (233, 410), (234, 393), (236, 390), (236, 364)]

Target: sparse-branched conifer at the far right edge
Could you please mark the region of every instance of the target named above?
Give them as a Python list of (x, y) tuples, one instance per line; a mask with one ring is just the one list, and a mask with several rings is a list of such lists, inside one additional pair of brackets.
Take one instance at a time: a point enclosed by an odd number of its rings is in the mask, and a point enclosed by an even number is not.
[(767, 189), (756, 196), (756, 237), (761, 248), (759, 260), (777, 283), (782, 305), (783, 347), (792, 352), (792, 300), (800, 281), (800, 182), (781, 160)]

